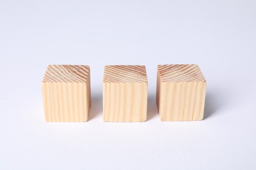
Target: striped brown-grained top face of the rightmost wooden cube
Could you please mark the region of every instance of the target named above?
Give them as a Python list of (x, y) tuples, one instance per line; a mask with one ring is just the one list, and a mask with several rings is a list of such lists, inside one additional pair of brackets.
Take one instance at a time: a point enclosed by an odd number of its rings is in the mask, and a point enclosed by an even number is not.
[(196, 64), (158, 65), (162, 82), (205, 82), (205, 78)]

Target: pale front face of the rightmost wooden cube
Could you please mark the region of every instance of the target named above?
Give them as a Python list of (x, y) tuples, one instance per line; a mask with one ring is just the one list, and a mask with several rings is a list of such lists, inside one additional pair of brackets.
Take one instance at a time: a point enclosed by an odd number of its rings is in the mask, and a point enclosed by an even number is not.
[(160, 89), (160, 118), (163, 121), (202, 120), (205, 82), (164, 82)]

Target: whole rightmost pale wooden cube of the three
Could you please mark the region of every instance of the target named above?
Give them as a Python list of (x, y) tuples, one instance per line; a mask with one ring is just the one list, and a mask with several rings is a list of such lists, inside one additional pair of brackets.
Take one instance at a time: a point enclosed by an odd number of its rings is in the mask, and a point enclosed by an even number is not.
[(198, 65), (158, 65), (156, 101), (161, 120), (202, 120), (205, 93)]

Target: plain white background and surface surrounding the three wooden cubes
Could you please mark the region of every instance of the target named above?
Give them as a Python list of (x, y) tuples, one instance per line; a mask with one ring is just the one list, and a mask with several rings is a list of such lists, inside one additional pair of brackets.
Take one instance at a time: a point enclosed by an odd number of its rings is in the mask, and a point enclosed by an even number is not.
[[(256, 1), (0, 1), (0, 169), (256, 169)], [(204, 120), (161, 122), (158, 64), (196, 63)], [(85, 123), (46, 123), (49, 64), (91, 66)], [(104, 65), (146, 65), (148, 120), (102, 121)]]

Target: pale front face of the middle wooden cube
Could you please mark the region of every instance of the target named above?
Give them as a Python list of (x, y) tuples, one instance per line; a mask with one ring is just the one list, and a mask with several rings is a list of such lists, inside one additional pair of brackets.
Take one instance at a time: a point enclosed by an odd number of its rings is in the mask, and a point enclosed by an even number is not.
[(104, 83), (105, 122), (144, 122), (147, 109), (147, 83)]

